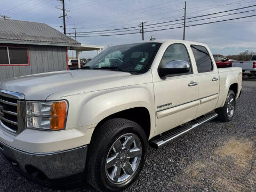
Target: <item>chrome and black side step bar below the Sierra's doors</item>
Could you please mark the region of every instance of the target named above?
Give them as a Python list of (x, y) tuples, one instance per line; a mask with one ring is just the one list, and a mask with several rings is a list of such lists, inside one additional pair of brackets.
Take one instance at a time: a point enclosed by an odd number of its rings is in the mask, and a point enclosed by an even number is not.
[(171, 129), (170, 131), (166, 131), (166, 132), (162, 133), (161, 135), (154, 137), (153, 139), (151, 139), (149, 141), (149, 145), (156, 149), (159, 147), (162, 147), (165, 144), (178, 138), (182, 134), (187, 133), (190, 130), (193, 130), (194, 128), (196, 128), (198, 126), (211, 121), (212, 119), (216, 118), (217, 116), (218, 115), (215, 113), (210, 113), (210, 114), (206, 114), (201, 117), (198, 117), (196, 120), (193, 120), (184, 125), (175, 127), (173, 129)]

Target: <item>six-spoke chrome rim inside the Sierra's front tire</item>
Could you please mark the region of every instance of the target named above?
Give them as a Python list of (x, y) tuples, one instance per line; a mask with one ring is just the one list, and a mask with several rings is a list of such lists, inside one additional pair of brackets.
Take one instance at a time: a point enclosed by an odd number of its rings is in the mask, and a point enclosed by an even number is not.
[(121, 184), (137, 171), (142, 155), (140, 139), (127, 133), (119, 137), (110, 147), (105, 163), (105, 172), (110, 182)]

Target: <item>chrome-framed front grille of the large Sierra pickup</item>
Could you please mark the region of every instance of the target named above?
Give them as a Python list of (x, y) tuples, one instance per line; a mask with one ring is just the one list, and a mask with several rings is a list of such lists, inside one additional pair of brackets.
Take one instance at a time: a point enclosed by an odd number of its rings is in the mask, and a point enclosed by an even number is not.
[[(5, 90), (0, 90), (0, 124), (4, 129), (11, 131), (12, 133), (19, 133), (19, 122), (22, 122), (22, 114), (20, 113), (21, 100), (25, 99), (22, 93), (10, 92)], [(23, 101), (24, 102), (24, 101)], [(23, 105), (25, 107), (25, 105)], [(22, 130), (25, 127), (20, 127)]]

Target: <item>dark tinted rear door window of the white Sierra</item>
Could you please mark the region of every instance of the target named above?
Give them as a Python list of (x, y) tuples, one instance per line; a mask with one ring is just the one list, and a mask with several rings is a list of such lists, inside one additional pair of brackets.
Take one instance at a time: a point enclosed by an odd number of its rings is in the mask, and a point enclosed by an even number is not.
[(198, 73), (212, 71), (212, 60), (206, 48), (204, 46), (191, 45), (191, 49), (194, 53)]

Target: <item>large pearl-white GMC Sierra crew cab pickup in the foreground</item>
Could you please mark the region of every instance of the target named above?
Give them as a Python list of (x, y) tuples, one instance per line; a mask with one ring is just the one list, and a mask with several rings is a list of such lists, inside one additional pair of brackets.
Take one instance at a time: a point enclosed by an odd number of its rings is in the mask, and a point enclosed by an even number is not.
[(123, 190), (148, 144), (162, 147), (217, 116), (230, 121), (241, 88), (242, 69), (217, 69), (205, 44), (109, 47), (79, 70), (1, 82), (0, 152), (46, 185)]

